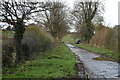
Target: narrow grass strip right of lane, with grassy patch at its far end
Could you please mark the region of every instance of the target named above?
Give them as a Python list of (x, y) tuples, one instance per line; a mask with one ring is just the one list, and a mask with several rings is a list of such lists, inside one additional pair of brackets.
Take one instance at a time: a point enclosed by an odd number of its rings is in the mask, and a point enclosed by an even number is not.
[(85, 45), (85, 44), (82, 44), (82, 43), (81, 44), (75, 44), (75, 40), (72, 39), (72, 34), (68, 34), (65, 38), (63, 38), (63, 40), (65, 42), (72, 43), (73, 45), (75, 45), (77, 47), (80, 47), (82, 49), (86, 49), (90, 52), (94, 52), (94, 53), (102, 54), (104, 56), (108, 56), (108, 57), (110, 57), (110, 58), (112, 58), (113, 60), (116, 60), (116, 61), (118, 61), (118, 59), (120, 58), (118, 53), (115, 52), (115, 51), (112, 51), (112, 50), (98, 48), (98, 47), (87, 45), (87, 44)]

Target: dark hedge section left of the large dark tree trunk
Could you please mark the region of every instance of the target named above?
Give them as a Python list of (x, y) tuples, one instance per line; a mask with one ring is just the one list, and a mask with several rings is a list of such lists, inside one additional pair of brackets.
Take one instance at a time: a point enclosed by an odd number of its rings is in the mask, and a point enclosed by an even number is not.
[(2, 67), (12, 67), (13, 52), (13, 32), (4, 31), (2, 34)]

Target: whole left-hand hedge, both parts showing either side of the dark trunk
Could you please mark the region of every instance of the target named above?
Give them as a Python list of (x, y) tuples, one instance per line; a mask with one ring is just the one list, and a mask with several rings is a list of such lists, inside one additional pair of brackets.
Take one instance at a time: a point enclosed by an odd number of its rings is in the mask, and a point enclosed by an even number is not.
[[(3, 67), (12, 67), (15, 59), (14, 32), (3, 31), (2, 34), (2, 63)], [(29, 25), (22, 39), (23, 61), (30, 60), (34, 53), (45, 51), (53, 46), (54, 40), (50, 34), (36, 25)]]

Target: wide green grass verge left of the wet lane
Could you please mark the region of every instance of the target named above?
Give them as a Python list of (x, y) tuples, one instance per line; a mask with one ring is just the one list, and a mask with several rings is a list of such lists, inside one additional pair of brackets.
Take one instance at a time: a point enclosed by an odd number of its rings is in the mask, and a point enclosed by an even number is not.
[(75, 76), (75, 57), (64, 45), (39, 53), (19, 68), (3, 69), (3, 78), (58, 78)]

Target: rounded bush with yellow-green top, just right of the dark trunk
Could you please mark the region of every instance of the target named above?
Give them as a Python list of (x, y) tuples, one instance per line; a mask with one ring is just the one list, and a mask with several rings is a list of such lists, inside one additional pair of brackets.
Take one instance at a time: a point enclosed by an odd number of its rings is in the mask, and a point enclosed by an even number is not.
[(22, 40), (25, 59), (30, 59), (35, 52), (45, 51), (53, 45), (53, 38), (37, 25), (26, 28)]

